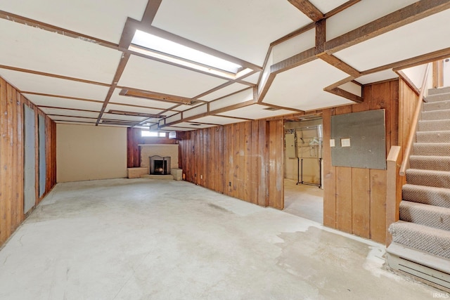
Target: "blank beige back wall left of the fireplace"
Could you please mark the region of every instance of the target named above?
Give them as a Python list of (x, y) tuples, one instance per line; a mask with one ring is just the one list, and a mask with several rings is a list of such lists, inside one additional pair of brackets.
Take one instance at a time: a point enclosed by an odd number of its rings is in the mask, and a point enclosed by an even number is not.
[(56, 125), (56, 181), (127, 177), (127, 129)]

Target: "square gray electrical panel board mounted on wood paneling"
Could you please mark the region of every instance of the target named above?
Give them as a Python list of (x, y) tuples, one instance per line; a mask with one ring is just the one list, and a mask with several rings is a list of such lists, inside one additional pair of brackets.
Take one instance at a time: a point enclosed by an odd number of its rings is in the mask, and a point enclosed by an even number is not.
[(385, 170), (385, 110), (332, 116), (330, 147), (335, 167)]

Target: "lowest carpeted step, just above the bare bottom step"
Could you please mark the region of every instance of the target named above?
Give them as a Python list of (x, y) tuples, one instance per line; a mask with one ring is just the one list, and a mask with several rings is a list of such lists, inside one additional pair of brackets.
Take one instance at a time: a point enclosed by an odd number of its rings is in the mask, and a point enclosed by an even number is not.
[(450, 259), (450, 232), (398, 221), (389, 227), (392, 242)]

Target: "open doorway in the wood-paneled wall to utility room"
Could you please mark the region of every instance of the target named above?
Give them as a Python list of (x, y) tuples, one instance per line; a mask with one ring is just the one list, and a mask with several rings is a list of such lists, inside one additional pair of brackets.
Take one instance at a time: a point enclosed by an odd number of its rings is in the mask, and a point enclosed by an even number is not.
[(283, 211), (323, 223), (321, 116), (285, 122)]

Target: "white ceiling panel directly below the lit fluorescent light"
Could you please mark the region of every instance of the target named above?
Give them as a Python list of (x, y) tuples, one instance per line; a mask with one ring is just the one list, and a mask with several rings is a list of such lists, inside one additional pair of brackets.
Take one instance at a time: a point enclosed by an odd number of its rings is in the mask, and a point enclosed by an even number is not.
[(182, 67), (131, 56), (118, 85), (193, 98), (225, 82)]

